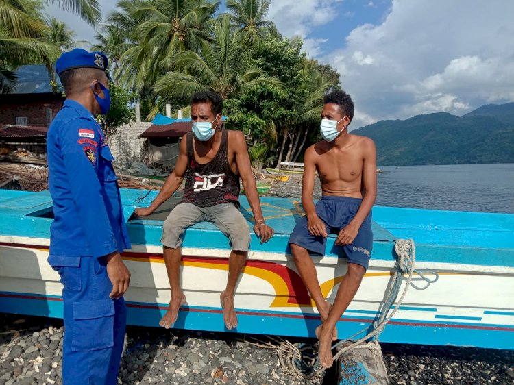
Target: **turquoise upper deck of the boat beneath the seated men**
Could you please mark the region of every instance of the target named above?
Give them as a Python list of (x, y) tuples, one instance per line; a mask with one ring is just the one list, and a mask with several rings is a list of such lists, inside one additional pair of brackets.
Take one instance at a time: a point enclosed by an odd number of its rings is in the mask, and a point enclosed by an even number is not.
[[(156, 191), (122, 189), (123, 210), (129, 218), (137, 207), (149, 206)], [(241, 212), (253, 228), (252, 211), (244, 195)], [(303, 215), (299, 199), (261, 197), (266, 222), (275, 230), (269, 243), (261, 245), (252, 235), (252, 251), (289, 253), (287, 240), (296, 221)], [(171, 197), (154, 214), (128, 222), (133, 245), (160, 245), (162, 225), (167, 215), (180, 201)], [(0, 234), (49, 238), (52, 221), (52, 201), (49, 192), (19, 192), (3, 190), (0, 212), (9, 220), (0, 223)], [(372, 229), (374, 251), (371, 258), (393, 261), (391, 243), (397, 238), (413, 238), (417, 245), (418, 262), (466, 263), (487, 266), (514, 266), (514, 214), (451, 212), (390, 208), (373, 209)], [(201, 243), (197, 236), (202, 234)], [(198, 235), (197, 234), (197, 235)], [(337, 256), (334, 234), (329, 236), (326, 258)], [(185, 247), (228, 249), (228, 241), (211, 223), (197, 223), (185, 234)], [(491, 254), (489, 251), (494, 250)], [(251, 256), (250, 256), (251, 257)]]

